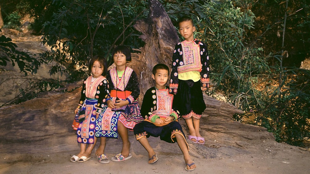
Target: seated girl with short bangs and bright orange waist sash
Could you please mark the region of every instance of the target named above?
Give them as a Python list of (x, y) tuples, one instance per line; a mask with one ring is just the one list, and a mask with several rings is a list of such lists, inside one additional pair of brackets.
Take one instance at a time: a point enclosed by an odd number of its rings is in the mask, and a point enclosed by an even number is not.
[[(96, 155), (100, 163), (108, 163), (108, 158), (104, 154), (106, 138), (113, 137), (113, 135), (117, 138), (117, 133), (123, 141), (122, 151), (111, 160), (130, 159), (132, 154), (129, 153), (128, 128), (133, 129), (135, 124), (143, 121), (137, 102), (140, 94), (138, 77), (135, 71), (126, 66), (127, 61), (131, 61), (131, 52), (128, 47), (120, 45), (113, 50), (112, 56), (116, 66), (111, 68), (107, 74), (108, 81), (113, 84), (110, 85), (110, 94), (107, 97), (109, 108), (100, 114), (96, 123), (96, 137), (100, 137), (100, 146)], [(108, 130), (107, 127), (109, 127)]]

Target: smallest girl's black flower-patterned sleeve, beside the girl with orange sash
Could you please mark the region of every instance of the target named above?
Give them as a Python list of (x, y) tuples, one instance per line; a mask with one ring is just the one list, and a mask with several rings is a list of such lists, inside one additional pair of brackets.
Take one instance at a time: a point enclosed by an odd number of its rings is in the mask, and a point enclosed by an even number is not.
[(98, 99), (96, 113), (100, 114), (103, 110), (103, 105), (107, 105), (106, 98), (108, 97), (109, 91), (109, 82), (107, 79), (104, 79), (97, 87), (97, 92), (95, 98)]

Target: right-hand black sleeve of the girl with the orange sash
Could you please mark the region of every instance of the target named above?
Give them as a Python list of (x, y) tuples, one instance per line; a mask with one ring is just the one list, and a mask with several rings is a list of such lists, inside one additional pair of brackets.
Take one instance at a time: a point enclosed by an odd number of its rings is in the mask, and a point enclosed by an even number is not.
[(132, 71), (128, 84), (125, 87), (125, 91), (131, 91), (126, 100), (129, 101), (129, 104), (134, 102), (140, 95), (139, 81), (135, 71)]

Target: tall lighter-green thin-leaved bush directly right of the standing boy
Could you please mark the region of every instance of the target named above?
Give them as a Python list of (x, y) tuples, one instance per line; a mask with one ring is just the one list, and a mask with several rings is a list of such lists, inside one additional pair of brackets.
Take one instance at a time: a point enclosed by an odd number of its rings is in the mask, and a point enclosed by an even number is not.
[(260, 54), (262, 49), (245, 43), (246, 30), (253, 28), (255, 15), (229, 1), (210, 2), (204, 8), (209, 20), (201, 20), (199, 25), (204, 27), (200, 31), (204, 33), (197, 33), (197, 37), (206, 35), (204, 41), (210, 50), (211, 76), (215, 84), (211, 94), (216, 90), (226, 101), (246, 110), (249, 96), (255, 92), (253, 80), (269, 69)]

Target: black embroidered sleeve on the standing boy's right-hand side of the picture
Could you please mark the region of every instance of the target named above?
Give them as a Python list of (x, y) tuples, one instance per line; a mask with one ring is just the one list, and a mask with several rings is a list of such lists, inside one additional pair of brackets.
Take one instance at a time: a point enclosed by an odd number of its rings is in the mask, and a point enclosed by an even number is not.
[(209, 55), (208, 55), (208, 48), (205, 43), (201, 41), (196, 41), (197, 44), (200, 46), (200, 58), (201, 58), (201, 87), (209, 88)]

